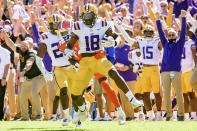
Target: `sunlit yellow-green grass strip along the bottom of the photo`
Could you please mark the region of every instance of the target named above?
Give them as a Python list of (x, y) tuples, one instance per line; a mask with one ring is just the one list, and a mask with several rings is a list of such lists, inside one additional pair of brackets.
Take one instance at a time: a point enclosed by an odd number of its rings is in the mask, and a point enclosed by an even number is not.
[(48, 121), (2, 121), (0, 131), (5, 130), (76, 130), (76, 131), (197, 131), (197, 122), (84, 122), (81, 128), (74, 124), (61, 126), (61, 122)]

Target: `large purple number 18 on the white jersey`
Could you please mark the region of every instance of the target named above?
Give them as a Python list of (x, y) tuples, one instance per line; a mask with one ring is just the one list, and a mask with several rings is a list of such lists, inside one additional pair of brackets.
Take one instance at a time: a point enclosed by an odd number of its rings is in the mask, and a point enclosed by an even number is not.
[[(90, 43), (89, 43), (90, 39)], [(99, 47), (99, 35), (85, 36), (86, 40), (86, 51), (95, 51), (98, 50)]]

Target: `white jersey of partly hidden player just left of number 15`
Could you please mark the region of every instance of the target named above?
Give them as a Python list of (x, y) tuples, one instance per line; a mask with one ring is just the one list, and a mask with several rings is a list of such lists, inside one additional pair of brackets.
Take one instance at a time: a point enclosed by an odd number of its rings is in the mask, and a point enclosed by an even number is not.
[(133, 72), (138, 73), (139, 76), (142, 76), (142, 55), (137, 56), (136, 50), (130, 52), (129, 60), (133, 64)]

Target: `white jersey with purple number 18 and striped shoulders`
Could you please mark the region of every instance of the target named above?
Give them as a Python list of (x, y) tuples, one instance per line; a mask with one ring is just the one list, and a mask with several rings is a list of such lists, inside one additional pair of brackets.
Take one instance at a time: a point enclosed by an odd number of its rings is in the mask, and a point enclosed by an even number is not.
[(75, 22), (72, 26), (72, 32), (78, 36), (79, 53), (92, 53), (103, 50), (100, 40), (104, 38), (106, 31), (113, 26), (112, 21), (98, 19), (92, 28), (89, 28), (82, 21)]

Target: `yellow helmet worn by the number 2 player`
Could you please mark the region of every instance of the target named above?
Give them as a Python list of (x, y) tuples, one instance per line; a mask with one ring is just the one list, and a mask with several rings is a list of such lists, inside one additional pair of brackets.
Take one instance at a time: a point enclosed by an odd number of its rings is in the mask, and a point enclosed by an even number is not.
[(60, 22), (63, 21), (63, 18), (58, 14), (53, 14), (48, 18), (49, 30), (50, 32), (58, 31)]

